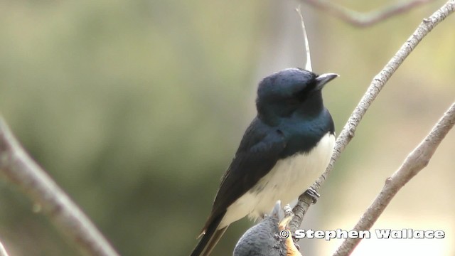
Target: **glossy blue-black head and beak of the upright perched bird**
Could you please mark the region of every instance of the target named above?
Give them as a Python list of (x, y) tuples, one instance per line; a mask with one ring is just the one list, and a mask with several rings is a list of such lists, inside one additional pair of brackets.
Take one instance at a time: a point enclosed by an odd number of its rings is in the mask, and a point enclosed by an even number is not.
[(319, 114), (323, 110), (321, 90), (336, 77), (338, 75), (334, 73), (316, 75), (301, 68), (287, 68), (267, 76), (259, 82), (257, 89), (259, 118)]

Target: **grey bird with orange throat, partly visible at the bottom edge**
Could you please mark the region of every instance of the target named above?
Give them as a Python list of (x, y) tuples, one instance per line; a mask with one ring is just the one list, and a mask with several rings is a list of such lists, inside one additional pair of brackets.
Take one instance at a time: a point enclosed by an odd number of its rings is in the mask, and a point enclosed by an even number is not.
[[(292, 216), (279, 220), (279, 201), (272, 213), (247, 230), (235, 245), (233, 256), (301, 256), (287, 225)], [(284, 233), (283, 233), (284, 231)], [(284, 235), (287, 235), (285, 237)]]

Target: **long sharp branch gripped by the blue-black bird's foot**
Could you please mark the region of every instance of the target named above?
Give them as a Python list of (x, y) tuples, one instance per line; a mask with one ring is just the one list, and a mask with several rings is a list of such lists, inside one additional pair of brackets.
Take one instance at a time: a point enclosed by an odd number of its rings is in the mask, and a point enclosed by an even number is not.
[[(373, 78), (373, 81), (368, 87), (365, 95), (363, 95), (362, 99), (358, 103), (357, 107), (355, 107), (353, 113), (350, 115), (348, 122), (346, 122), (343, 130), (341, 131), (340, 135), (336, 139), (335, 149), (333, 149), (333, 155), (331, 158), (330, 163), (326, 171), (318, 178), (316, 183), (314, 183), (313, 188), (316, 192), (320, 191), (320, 188), (326, 178), (330, 174), (333, 169), (333, 164), (335, 161), (340, 157), (341, 152), (346, 148), (346, 145), (353, 139), (355, 134), (355, 129), (357, 129), (360, 120), (362, 120), (365, 112), (367, 112), (370, 105), (373, 103), (373, 100), (378, 96), (379, 92), (384, 87), (385, 83), (389, 80), (389, 78), (395, 73), (395, 70), (400, 67), (400, 65), (405, 61), (408, 55), (412, 53), (412, 50), (422, 41), (422, 39), (427, 36), (427, 34), (432, 31), (432, 29), (437, 26), (441, 21), (452, 14), (455, 10), (455, 0), (447, 1), (444, 6), (442, 6), (439, 10), (434, 12), (432, 16), (429, 18), (424, 18), (424, 21), (420, 23), (417, 27), (416, 31), (412, 33), (410, 38), (403, 44), (400, 50), (395, 53), (392, 59), (385, 65), (385, 67), (378, 73), (378, 75)], [(299, 202), (294, 207), (294, 218), (289, 224), (289, 227), (294, 232), (297, 228), (299, 228), (301, 224), (301, 220), (304, 217), (304, 214), (308, 210), (309, 206), (311, 205), (313, 199), (303, 193), (299, 197)]]

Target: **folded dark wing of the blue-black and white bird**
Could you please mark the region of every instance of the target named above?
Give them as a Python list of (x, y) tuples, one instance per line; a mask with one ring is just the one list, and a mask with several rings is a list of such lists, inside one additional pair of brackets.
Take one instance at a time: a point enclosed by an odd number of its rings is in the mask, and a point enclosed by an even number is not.
[(279, 160), (286, 140), (279, 129), (272, 129), (255, 119), (243, 135), (239, 149), (221, 181), (212, 213), (203, 231), (240, 196), (250, 190)]

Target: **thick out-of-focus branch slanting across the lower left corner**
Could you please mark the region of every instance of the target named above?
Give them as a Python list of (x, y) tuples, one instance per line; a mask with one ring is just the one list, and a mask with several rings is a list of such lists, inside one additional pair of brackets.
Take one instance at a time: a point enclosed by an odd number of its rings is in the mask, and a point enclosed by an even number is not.
[(81, 252), (118, 255), (82, 210), (22, 149), (1, 117), (0, 175), (20, 187)]

